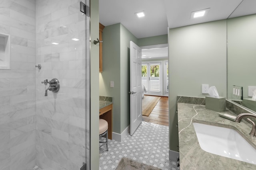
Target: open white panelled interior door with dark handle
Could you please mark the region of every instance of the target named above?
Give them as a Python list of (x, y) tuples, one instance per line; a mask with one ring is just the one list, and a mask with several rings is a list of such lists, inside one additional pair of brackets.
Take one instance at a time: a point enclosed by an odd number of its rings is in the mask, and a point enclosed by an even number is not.
[(142, 122), (141, 48), (130, 41), (130, 134)]

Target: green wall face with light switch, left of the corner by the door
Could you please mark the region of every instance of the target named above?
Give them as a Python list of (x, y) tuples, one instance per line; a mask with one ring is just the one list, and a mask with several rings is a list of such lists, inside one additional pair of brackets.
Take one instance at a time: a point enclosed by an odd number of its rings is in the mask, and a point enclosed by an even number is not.
[[(113, 132), (120, 133), (120, 23), (106, 26), (102, 34), (100, 96), (113, 97)], [(110, 88), (114, 81), (114, 88)]]

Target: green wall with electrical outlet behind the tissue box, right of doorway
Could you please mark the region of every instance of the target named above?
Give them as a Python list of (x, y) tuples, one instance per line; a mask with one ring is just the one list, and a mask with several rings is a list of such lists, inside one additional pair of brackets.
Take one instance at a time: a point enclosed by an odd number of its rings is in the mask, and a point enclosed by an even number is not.
[(202, 84), (226, 97), (226, 20), (169, 30), (170, 150), (177, 151), (177, 96), (205, 97)]

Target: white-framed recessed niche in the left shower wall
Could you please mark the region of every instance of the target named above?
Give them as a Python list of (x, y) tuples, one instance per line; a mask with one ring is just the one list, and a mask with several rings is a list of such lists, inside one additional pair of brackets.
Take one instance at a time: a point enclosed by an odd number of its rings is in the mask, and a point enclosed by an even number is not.
[(0, 33), (0, 69), (10, 70), (10, 35)]

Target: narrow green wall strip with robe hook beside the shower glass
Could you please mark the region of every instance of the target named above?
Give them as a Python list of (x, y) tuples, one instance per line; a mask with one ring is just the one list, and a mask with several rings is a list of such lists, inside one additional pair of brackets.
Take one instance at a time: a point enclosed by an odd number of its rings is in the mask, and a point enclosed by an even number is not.
[(99, 1), (90, 1), (90, 169), (99, 169)]

